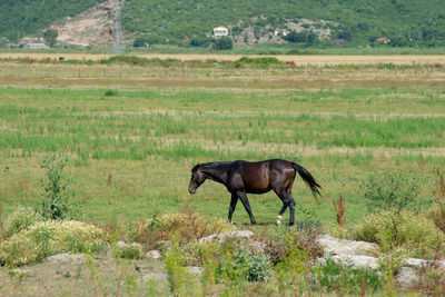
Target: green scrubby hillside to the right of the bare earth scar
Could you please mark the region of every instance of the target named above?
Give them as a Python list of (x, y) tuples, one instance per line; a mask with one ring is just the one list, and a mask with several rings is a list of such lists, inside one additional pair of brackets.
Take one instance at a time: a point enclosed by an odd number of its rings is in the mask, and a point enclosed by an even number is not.
[[(305, 19), (314, 23), (305, 26)], [(275, 29), (291, 31), (303, 24), (315, 32), (329, 29), (330, 39), (357, 44), (388, 37), (400, 46), (436, 46), (445, 40), (445, 4), (443, 0), (130, 0), (122, 23), (151, 43), (181, 43), (208, 36), (217, 26), (228, 27), (243, 41), (254, 33), (258, 42)]]

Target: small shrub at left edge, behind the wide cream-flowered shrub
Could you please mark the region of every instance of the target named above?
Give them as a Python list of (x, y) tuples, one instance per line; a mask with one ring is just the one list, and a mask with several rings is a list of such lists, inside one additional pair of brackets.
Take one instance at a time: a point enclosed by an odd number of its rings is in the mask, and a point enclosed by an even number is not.
[(9, 237), (21, 230), (24, 230), (38, 220), (41, 220), (41, 216), (38, 212), (30, 207), (19, 205), (16, 210), (4, 220), (4, 236)]

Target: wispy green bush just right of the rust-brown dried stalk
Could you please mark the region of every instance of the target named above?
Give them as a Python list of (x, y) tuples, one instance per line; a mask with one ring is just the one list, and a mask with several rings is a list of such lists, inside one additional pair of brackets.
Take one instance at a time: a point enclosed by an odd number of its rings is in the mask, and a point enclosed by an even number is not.
[(374, 174), (364, 185), (364, 197), (370, 210), (416, 208), (418, 180), (402, 172)]

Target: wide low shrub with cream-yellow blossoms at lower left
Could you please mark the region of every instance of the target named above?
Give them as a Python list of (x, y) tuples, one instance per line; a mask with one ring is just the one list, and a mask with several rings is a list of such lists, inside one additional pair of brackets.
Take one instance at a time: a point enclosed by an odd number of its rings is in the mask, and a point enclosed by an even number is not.
[(38, 221), (0, 245), (0, 264), (39, 261), (59, 253), (96, 253), (105, 246), (103, 230), (75, 220)]

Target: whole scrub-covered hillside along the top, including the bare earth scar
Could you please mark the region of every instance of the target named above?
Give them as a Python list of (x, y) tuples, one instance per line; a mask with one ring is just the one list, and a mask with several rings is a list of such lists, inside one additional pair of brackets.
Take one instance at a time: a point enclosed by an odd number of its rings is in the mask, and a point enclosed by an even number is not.
[[(56, 24), (58, 41), (62, 43), (96, 46), (111, 42), (113, 38), (103, 37), (112, 26), (110, 16), (91, 10), (101, 2), (105, 1), (0, 1), (0, 38), (16, 42), (24, 36), (39, 36), (42, 29)], [(238, 46), (286, 42), (286, 38), (275, 34), (277, 29), (286, 33), (295, 31), (287, 41), (301, 46), (327, 46), (333, 39), (343, 39), (353, 46), (368, 46), (379, 37), (389, 38), (392, 46), (445, 46), (443, 0), (119, 2), (123, 4), (120, 21), (128, 43), (136, 39), (139, 44), (207, 47), (211, 29), (225, 26)]]

